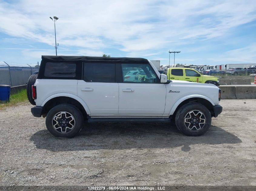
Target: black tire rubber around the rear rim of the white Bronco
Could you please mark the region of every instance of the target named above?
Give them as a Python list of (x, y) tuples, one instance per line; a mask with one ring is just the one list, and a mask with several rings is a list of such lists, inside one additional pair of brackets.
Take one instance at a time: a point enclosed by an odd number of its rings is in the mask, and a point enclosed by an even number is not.
[[(54, 128), (53, 118), (56, 115), (56, 113), (58, 113), (58, 112), (67, 112), (67, 113), (70, 113), (74, 117), (75, 125), (74, 125), (73, 129), (70, 130), (69, 132), (66, 132), (66, 133), (58, 132)], [(46, 127), (47, 127), (48, 131), (53, 136), (58, 137), (58, 138), (72, 138), (72, 137), (74, 137), (75, 135), (78, 134), (78, 132), (80, 132), (80, 130), (83, 126), (83, 122), (84, 122), (84, 118), (83, 118), (83, 114), (81, 113), (81, 111), (77, 107), (75, 107), (71, 104), (67, 104), (67, 103), (59, 104), (59, 105), (53, 107), (47, 113), (47, 116), (46, 116), (46, 119), (45, 119), (45, 124), (46, 124)]]

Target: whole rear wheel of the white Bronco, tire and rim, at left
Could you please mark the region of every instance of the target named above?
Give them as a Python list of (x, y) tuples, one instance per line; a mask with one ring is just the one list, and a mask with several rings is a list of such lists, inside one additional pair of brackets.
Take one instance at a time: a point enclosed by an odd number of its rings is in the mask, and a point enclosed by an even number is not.
[(83, 120), (83, 115), (77, 107), (71, 104), (60, 104), (47, 113), (45, 124), (53, 136), (72, 138), (81, 130)]

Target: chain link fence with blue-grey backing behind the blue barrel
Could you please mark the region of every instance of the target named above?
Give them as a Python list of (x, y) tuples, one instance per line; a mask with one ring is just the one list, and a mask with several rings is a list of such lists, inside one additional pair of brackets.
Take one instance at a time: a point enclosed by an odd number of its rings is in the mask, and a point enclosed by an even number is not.
[[(36, 66), (36, 67), (35, 67)], [(27, 83), (33, 72), (38, 71), (37, 64), (27, 66), (15, 65), (10, 62), (0, 61), (0, 84), (19, 86)]]

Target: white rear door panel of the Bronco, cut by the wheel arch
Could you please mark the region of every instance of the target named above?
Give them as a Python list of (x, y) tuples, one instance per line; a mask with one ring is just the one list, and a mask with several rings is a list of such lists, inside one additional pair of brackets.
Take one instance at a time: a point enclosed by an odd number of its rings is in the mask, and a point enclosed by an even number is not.
[(77, 95), (85, 101), (91, 115), (118, 114), (118, 83), (78, 80)]

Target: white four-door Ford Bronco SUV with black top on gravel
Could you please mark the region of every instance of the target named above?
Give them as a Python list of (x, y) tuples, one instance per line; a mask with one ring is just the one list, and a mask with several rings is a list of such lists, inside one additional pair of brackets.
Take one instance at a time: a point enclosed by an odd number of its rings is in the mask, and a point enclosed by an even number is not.
[[(129, 71), (145, 75), (129, 81)], [(167, 80), (142, 58), (42, 56), (38, 76), (28, 80), (35, 117), (46, 117), (55, 137), (71, 138), (91, 122), (165, 122), (175, 119), (188, 136), (204, 134), (221, 113), (213, 84)]]

